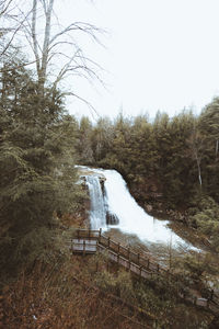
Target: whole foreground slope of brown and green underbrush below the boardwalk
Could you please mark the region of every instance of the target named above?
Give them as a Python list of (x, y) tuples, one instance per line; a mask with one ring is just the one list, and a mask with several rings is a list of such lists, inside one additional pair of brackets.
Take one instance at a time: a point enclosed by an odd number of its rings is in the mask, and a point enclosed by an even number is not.
[(212, 315), (184, 305), (165, 282), (130, 276), (106, 256), (35, 262), (1, 294), (0, 328), (208, 328)]

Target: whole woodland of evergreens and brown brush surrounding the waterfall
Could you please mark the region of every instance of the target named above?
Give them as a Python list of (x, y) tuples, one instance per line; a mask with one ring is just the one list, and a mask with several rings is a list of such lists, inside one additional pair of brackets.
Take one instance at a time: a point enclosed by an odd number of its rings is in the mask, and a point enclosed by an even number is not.
[[(13, 19), (12, 3), (0, 1), (0, 18)], [(53, 1), (41, 3), (44, 47), (35, 33), (37, 1), (26, 24), (35, 68), (13, 41), (21, 26), (12, 36), (0, 34), (0, 328), (218, 328), (217, 311), (178, 299), (178, 283), (140, 281), (112, 264), (108, 271), (106, 254), (80, 258), (68, 241), (85, 225), (88, 193), (76, 164), (115, 169), (148, 213), (180, 222), (206, 241), (204, 254), (172, 256), (180, 282), (208, 296), (206, 282), (214, 277), (219, 288), (219, 98), (199, 115), (188, 109), (173, 117), (158, 112), (154, 120), (123, 113), (113, 121), (78, 120), (59, 87), (78, 66), (72, 56), (49, 78), (49, 46), (57, 45), (48, 32)], [(67, 31), (81, 29), (93, 37), (90, 24)]]

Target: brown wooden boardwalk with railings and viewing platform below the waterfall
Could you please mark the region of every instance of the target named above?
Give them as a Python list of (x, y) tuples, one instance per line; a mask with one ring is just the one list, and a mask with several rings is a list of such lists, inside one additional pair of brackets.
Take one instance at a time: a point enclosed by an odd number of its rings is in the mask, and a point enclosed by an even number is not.
[[(77, 229), (76, 235), (71, 240), (71, 249), (74, 253), (92, 254), (97, 251), (107, 251), (107, 257), (111, 261), (118, 263), (123, 268), (129, 270), (142, 279), (151, 279), (152, 276), (162, 275), (170, 283), (177, 279), (168, 269), (155, 263), (150, 258), (142, 257), (136, 253), (130, 248), (125, 248), (118, 242), (115, 242), (110, 237), (105, 237), (102, 230)], [(187, 287), (187, 286), (186, 286)], [(189, 292), (192, 292), (192, 288)], [(198, 297), (197, 294), (188, 294), (178, 292), (178, 296), (194, 305), (210, 308), (212, 310), (219, 308), (219, 300), (214, 292), (210, 298)]]

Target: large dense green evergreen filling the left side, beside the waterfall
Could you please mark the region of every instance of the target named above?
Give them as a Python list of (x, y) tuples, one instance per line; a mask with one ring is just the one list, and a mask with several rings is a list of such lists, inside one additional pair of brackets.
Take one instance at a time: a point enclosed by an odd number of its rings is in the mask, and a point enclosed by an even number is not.
[[(51, 258), (57, 215), (76, 211), (72, 144), (76, 121), (58, 91), (44, 98), (24, 63), (12, 56), (0, 77), (1, 282), (23, 263)], [(54, 228), (54, 229), (53, 229)]]

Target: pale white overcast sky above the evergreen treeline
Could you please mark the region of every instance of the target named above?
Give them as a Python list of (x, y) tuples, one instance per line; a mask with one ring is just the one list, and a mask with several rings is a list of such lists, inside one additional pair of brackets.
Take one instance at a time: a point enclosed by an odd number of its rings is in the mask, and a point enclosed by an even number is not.
[[(105, 49), (84, 45), (108, 71), (108, 90), (68, 80), (100, 115), (115, 117), (122, 107), (150, 117), (191, 106), (199, 113), (219, 95), (219, 0), (62, 0), (56, 12), (65, 24), (84, 21), (108, 31)], [(91, 115), (77, 101), (68, 109)]]

